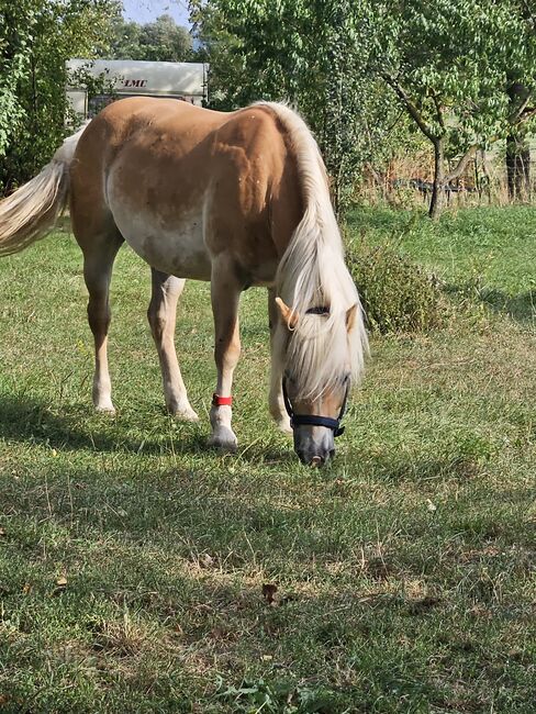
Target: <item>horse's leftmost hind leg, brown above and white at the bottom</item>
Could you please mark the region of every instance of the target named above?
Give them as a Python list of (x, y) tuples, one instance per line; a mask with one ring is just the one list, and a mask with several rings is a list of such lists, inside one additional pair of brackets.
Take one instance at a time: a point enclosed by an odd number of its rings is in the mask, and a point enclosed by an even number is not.
[(93, 404), (99, 412), (115, 412), (108, 370), (108, 328), (110, 326), (110, 280), (123, 238), (116, 230), (102, 238), (82, 243), (83, 278), (89, 292), (88, 321), (94, 339)]

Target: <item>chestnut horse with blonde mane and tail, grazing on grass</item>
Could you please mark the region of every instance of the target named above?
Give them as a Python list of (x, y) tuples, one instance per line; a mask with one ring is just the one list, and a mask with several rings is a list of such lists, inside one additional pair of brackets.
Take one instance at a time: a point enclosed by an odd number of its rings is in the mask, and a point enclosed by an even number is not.
[(268, 102), (222, 113), (176, 100), (118, 101), (0, 203), (0, 255), (42, 237), (67, 201), (83, 253), (97, 410), (114, 411), (109, 286), (126, 241), (152, 269), (148, 320), (168, 410), (197, 419), (175, 350), (176, 308), (186, 278), (210, 280), (217, 367), (210, 444), (236, 448), (231, 388), (241, 352), (239, 295), (265, 286), (270, 412), (281, 428), (293, 429), (304, 462), (334, 454), (367, 337), (325, 168), (298, 114)]

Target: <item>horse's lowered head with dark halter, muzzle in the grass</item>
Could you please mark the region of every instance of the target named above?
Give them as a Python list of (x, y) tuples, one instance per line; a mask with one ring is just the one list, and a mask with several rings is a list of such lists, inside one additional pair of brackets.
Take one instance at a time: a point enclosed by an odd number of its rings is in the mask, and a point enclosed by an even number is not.
[[(358, 304), (333, 312), (313, 305), (303, 314), (277, 298), (281, 315), (280, 358), (283, 398), (291, 419), (294, 450), (304, 464), (320, 466), (335, 454), (335, 437), (356, 375), (356, 336), (364, 331)], [(358, 350), (359, 355), (362, 350)]]

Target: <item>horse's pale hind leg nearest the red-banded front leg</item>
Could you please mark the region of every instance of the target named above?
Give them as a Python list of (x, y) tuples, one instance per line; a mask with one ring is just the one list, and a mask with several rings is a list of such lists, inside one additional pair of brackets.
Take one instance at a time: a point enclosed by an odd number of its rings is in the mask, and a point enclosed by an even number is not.
[(175, 350), (175, 323), (177, 301), (185, 288), (185, 280), (152, 268), (153, 293), (147, 319), (160, 360), (164, 397), (168, 411), (180, 419), (197, 421), (190, 406), (185, 382)]

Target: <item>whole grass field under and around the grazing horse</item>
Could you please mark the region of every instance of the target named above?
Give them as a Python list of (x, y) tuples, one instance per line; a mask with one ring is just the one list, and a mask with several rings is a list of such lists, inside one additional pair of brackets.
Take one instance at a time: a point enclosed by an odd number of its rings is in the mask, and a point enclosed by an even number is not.
[(0, 261), (2, 713), (536, 711), (536, 211), (356, 210), (350, 231), (399, 241), (470, 310), (372, 339), (323, 470), (268, 419), (263, 291), (221, 456), (205, 286), (181, 301), (201, 422), (180, 424), (148, 269), (120, 253), (107, 419), (72, 238)]

